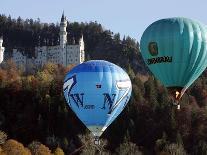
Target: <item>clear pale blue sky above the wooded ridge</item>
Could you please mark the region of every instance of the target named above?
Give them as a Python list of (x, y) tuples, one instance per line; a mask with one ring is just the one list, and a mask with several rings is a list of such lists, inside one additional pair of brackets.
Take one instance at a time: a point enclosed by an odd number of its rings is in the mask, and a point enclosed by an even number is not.
[(62, 12), (69, 22), (97, 21), (105, 29), (140, 41), (148, 25), (169, 17), (187, 17), (207, 24), (206, 0), (1, 0), (0, 14), (40, 18), (57, 23)]

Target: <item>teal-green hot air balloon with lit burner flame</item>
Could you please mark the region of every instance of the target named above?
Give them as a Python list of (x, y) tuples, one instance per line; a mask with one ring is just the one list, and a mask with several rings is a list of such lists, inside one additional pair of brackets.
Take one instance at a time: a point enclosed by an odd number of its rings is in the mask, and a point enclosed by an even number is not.
[(152, 23), (140, 42), (145, 63), (178, 103), (207, 66), (207, 27), (187, 18)]

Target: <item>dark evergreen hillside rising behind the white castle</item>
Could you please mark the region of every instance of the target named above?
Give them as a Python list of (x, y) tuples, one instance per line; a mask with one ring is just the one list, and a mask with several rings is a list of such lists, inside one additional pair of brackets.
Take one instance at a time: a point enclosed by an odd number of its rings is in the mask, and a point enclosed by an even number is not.
[[(83, 34), (86, 60), (104, 59), (126, 69), (132, 68), (135, 73), (146, 73), (139, 44), (129, 36), (121, 39), (120, 34), (105, 30), (97, 22), (68, 23), (67, 32), (69, 43), (73, 40), (77, 42)], [(39, 19), (12, 19), (0, 15), (0, 34), (4, 37), (7, 56), (13, 48), (19, 48), (31, 57), (35, 46), (59, 44), (59, 23), (41, 23)]]

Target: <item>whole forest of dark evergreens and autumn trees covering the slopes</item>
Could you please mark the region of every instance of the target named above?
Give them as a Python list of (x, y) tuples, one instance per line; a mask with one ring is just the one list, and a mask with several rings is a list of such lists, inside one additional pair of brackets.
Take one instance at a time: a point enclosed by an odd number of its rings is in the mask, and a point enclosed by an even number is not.
[(206, 71), (177, 110), (144, 65), (138, 42), (128, 36), (121, 39), (97, 22), (68, 24), (69, 41), (83, 34), (87, 60), (111, 61), (128, 72), (133, 84), (129, 103), (104, 132), (101, 145), (94, 145), (63, 96), (64, 76), (74, 65), (48, 63), (31, 74), (9, 59), (13, 48), (32, 56), (35, 46), (58, 44), (59, 24), (0, 15), (8, 54), (0, 66), (0, 154), (207, 154)]

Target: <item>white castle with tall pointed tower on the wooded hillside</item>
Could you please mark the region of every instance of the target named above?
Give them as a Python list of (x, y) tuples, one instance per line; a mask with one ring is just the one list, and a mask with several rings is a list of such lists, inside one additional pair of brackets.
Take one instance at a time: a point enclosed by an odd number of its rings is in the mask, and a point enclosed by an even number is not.
[[(31, 69), (34, 66), (40, 67), (51, 62), (54, 64), (80, 64), (85, 59), (83, 36), (79, 39), (78, 44), (69, 45), (67, 42), (67, 20), (62, 14), (60, 22), (60, 44), (56, 46), (38, 46), (35, 47), (35, 58), (28, 58), (22, 51), (13, 49), (12, 59), (17, 67), (23, 69)], [(4, 58), (4, 47), (2, 47), (3, 39), (0, 38), (0, 63)]]

